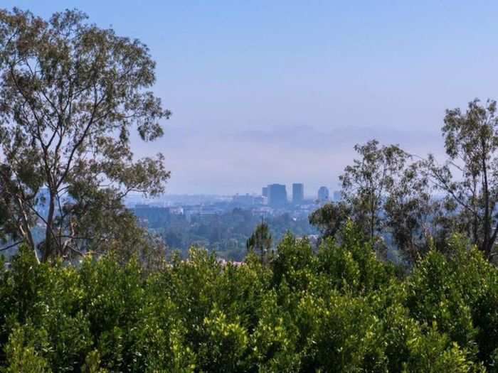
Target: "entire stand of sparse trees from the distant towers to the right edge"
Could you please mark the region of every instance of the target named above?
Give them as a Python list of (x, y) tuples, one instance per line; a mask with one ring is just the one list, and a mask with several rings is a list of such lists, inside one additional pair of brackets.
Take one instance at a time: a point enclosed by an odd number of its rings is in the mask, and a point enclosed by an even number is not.
[(377, 252), (396, 247), (410, 266), (433, 242), (444, 250), (455, 232), (491, 260), (498, 239), (497, 102), (474, 99), (465, 112), (447, 109), (442, 134), (444, 163), (375, 139), (356, 144), (359, 159), (339, 177), (342, 200), (319, 208), (309, 222), (334, 237), (351, 219)]

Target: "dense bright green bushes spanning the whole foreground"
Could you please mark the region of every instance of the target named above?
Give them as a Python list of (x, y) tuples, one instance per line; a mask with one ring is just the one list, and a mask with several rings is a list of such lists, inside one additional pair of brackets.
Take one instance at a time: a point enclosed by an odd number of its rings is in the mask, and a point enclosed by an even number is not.
[(498, 270), (455, 237), (401, 278), (347, 227), (261, 266), (200, 249), (0, 266), (0, 372), (497, 372)]

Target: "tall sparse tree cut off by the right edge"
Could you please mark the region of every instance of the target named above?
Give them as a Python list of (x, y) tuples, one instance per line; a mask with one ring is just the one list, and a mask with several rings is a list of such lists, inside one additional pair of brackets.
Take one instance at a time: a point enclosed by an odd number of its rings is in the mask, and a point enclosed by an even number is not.
[[(467, 111), (446, 111), (443, 126), (449, 159), (438, 166), (429, 156), (425, 162), (435, 187), (445, 193), (448, 217), (467, 232), (485, 256), (492, 256), (498, 234), (498, 117), (497, 103), (478, 99)], [(454, 173), (460, 175), (455, 178)]]

